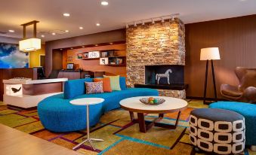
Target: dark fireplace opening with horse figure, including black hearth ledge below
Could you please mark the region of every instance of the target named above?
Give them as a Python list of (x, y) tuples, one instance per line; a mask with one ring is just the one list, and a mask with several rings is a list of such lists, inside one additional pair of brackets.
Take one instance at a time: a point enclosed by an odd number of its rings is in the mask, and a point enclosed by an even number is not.
[(145, 65), (145, 84), (135, 84), (134, 87), (186, 90), (184, 65)]

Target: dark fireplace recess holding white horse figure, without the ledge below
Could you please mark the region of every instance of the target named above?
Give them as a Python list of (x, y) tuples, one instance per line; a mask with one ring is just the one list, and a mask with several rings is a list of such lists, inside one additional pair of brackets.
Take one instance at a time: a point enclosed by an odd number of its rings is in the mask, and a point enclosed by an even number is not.
[(184, 65), (145, 65), (145, 84), (184, 84)]

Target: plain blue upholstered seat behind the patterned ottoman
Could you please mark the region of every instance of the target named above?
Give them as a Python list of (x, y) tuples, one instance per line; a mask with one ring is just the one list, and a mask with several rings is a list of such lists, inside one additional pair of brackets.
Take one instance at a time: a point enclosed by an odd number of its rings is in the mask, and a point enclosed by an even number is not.
[(209, 108), (236, 111), (245, 117), (245, 144), (256, 145), (256, 105), (243, 102), (215, 102)]

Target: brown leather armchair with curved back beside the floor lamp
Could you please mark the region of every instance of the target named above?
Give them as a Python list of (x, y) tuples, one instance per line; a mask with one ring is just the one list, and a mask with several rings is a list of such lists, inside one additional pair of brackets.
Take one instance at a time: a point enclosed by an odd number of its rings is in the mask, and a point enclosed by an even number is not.
[(256, 102), (256, 68), (236, 67), (235, 73), (239, 79), (239, 85), (235, 87), (222, 84), (221, 95), (232, 101)]

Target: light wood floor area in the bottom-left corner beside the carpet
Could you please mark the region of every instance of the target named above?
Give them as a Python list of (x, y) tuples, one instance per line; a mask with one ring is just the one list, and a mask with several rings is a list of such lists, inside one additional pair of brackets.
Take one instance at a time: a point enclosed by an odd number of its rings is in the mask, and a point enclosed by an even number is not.
[(0, 124), (0, 154), (75, 155), (79, 153)]

